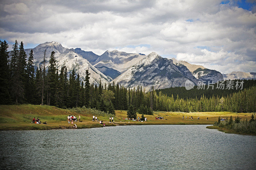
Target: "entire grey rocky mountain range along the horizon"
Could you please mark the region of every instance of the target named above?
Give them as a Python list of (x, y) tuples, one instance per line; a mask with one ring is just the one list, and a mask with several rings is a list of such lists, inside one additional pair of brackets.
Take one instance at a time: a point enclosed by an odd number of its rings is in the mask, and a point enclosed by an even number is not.
[[(85, 70), (89, 70), (90, 83), (103, 84), (119, 83), (126, 87), (142, 85), (146, 90), (152, 86), (155, 89), (174, 86), (184, 86), (186, 80), (197, 84), (198, 81), (206, 83), (222, 81), (223, 79), (251, 79), (256, 73), (232, 72), (221, 74), (219, 71), (210, 70), (202, 65), (190, 64), (175, 58), (163, 58), (155, 52), (149, 55), (126, 53), (117, 50), (106, 51), (102, 55), (81, 48), (64, 48), (58, 42), (45, 42), (39, 44), (34, 51), (35, 67), (42, 67), (44, 50), (46, 50), (46, 70), (49, 57), (55, 52), (57, 68), (66, 66), (68, 74), (74, 69), (79, 73), (81, 80), (85, 78)], [(27, 55), (31, 48), (25, 49)]]

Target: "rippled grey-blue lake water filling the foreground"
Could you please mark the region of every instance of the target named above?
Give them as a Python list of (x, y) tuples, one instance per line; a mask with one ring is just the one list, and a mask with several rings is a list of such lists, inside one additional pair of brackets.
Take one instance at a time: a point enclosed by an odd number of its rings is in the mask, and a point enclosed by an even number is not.
[(0, 131), (0, 169), (255, 169), (256, 136), (205, 127)]

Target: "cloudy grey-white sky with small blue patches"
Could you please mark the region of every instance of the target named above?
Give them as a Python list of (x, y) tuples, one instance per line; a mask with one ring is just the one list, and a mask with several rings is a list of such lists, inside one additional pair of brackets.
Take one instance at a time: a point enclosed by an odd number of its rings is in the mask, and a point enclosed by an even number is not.
[(255, 0), (1, 0), (0, 39), (57, 41), (101, 55), (176, 58), (221, 73), (256, 72)]

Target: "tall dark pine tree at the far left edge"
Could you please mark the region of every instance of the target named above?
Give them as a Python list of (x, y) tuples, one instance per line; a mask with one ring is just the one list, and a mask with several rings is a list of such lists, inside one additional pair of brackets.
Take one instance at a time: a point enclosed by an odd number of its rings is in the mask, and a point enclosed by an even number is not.
[(8, 43), (0, 41), (0, 105), (11, 104), (9, 93), (10, 69), (8, 66)]

